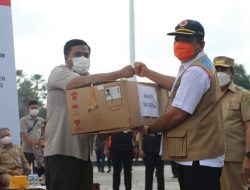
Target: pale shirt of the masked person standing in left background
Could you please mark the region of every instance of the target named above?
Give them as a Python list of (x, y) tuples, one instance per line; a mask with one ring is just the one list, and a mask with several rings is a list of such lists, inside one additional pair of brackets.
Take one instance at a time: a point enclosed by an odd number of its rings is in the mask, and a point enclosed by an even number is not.
[[(33, 124), (36, 121), (36, 119), (38, 119), (38, 120), (37, 120), (34, 128), (28, 133), (28, 130), (33, 127)], [(43, 123), (43, 118), (41, 118), (41, 117), (32, 118), (30, 115), (26, 115), (20, 119), (20, 132), (27, 133), (33, 141), (34, 140), (41, 140), (41, 139), (43, 139), (42, 123)], [(32, 153), (32, 147), (30, 147), (30, 145), (28, 145), (25, 142), (25, 140), (22, 140), (21, 146), (22, 146), (23, 152)]]

